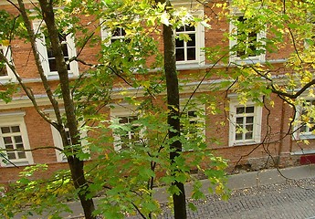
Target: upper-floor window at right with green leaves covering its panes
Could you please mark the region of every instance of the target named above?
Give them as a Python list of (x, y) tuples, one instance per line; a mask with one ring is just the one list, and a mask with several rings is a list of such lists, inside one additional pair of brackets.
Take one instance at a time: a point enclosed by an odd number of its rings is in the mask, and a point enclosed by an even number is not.
[(265, 51), (260, 48), (265, 33), (259, 30), (254, 22), (251, 22), (245, 16), (236, 15), (230, 23), (230, 34), (232, 36), (230, 40), (231, 62), (265, 61)]

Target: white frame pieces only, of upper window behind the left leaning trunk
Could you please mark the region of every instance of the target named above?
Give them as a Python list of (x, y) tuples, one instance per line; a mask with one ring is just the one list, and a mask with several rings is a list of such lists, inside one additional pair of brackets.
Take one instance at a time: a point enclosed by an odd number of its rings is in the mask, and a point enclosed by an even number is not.
[[(41, 22), (35, 21), (33, 22), (33, 27), (35, 34), (39, 34), (39, 36), (36, 39), (37, 49), (39, 53), (39, 58), (41, 61), (41, 64), (44, 68), (45, 75), (48, 79), (56, 79), (58, 78), (58, 72), (57, 71), (50, 71), (49, 68), (49, 62), (48, 62), (48, 56), (47, 56), (47, 47), (45, 42), (45, 36), (40, 31)], [(72, 57), (77, 56), (77, 50), (76, 45), (74, 42), (74, 36), (71, 34), (66, 37), (67, 48), (68, 48), (68, 58), (71, 59)], [(71, 61), (69, 64), (69, 70), (68, 70), (68, 76), (71, 77), (78, 77), (79, 76), (79, 66), (77, 61)]]

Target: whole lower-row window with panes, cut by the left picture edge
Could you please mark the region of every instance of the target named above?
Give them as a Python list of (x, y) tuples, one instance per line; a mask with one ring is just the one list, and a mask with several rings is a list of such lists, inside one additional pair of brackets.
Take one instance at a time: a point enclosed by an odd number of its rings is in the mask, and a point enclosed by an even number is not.
[[(32, 153), (24, 122), (25, 113), (0, 114), (0, 147), (2, 166), (28, 165), (33, 163)], [(21, 150), (21, 151), (19, 151)]]

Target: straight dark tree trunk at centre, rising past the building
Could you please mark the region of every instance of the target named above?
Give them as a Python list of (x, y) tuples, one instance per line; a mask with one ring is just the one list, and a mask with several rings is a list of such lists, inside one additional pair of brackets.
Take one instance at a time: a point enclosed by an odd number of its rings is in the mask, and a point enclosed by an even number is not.
[[(180, 111), (179, 111), (179, 89), (178, 78), (176, 72), (176, 57), (175, 57), (175, 36), (173, 26), (163, 25), (163, 45), (164, 45), (164, 71), (166, 76), (167, 88), (167, 104), (168, 104), (168, 117), (167, 122), (172, 130), (169, 130), (169, 138), (180, 135)], [(171, 144), (170, 159), (171, 162), (179, 156), (179, 151), (182, 151), (182, 142), (174, 141)], [(173, 194), (173, 210), (175, 219), (185, 219), (186, 203), (184, 193), (184, 183), (175, 182), (180, 194)]]

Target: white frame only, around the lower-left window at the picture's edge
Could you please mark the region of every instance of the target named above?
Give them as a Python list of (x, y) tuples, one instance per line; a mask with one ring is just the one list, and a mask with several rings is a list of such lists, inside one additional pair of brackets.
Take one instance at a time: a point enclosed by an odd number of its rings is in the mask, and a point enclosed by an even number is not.
[[(1, 113), (0, 114), (0, 127), (5, 126), (19, 126), (20, 134), (23, 141), (23, 146), (25, 150), (30, 150), (30, 145), (27, 136), (26, 123), (24, 121), (25, 112), (12, 112), (12, 113)], [(2, 132), (0, 131), (0, 147), (5, 148), (5, 142), (3, 139)], [(5, 153), (5, 151), (2, 151)], [(26, 151), (25, 159), (18, 159), (16, 161), (11, 161), (16, 166), (25, 166), (34, 163), (32, 152)], [(4, 158), (1, 157), (1, 166), (3, 167), (12, 167), (14, 166), (11, 162), (4, 162)]]

